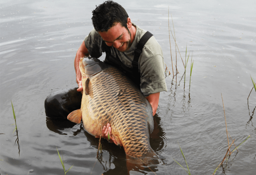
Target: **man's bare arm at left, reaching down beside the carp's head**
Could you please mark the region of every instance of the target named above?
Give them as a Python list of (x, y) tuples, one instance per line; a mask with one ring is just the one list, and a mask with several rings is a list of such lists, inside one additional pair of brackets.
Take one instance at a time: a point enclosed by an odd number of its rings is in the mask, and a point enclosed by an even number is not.
[(77, 89), (78, 92), (83, 90), (82, 75), (79, 70), (79, 61), (80, 61), (80, 58), (83, 58), (84, 56), (89, 56), (89, 52), (88, 52), (87, 48), (85, 47), (85, 44), (83, 41), (81, 46), (79, 47), (78, 51), (76, 52), (75, 61), (74, 61), (76, 83), (78, 84), (78, 89)]

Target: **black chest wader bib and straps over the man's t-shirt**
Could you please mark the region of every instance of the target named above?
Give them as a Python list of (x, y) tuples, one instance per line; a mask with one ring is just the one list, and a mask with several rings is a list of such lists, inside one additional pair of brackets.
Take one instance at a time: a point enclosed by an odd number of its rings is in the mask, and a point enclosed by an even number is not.
[(132, 68), (125, 66), (118, 56), (114, 57), (111, 55), (110, 47), (103, 42), (103, 47), (106, 52), (105, 63), (119, 68), (126, 76), (128, 76), (139, 88), (140, 88), (140, 70), (138, 66), (138, 61), (142, 52), (142, 49), (149, 38), (153, 36), (152, 33), (147, 31), (140, 39), (137, 48), (134, 50), (134, 58), (132, 61)]

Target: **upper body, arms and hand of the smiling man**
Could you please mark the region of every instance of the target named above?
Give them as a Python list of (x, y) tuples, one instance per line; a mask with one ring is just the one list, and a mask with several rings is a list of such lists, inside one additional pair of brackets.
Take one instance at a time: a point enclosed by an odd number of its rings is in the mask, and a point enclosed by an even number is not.
[[(80, 58), (99, 58), (102, 52), (106, 52), (105, 62), (117, 66), (135, 82), (150, 102), (155, 115), (159, 94), (167, 91), (160, 45), (152, 34), (132, 23), (125, 9), (113, 1), (97, 6), (92, 14), (94, 29), (85, 37), (74, 60), (76, 82), (79, 86), (77, 92), (83, 90)], [(139, 47), (141, 50), (138, 50)], [(109, 123), (102, 129), (103, 137), (107, 138), (108, 133), (111, 136)]]

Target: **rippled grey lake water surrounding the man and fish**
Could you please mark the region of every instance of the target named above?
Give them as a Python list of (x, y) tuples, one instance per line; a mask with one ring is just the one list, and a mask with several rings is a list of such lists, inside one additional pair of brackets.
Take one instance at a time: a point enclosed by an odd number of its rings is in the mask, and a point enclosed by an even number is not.
[[(228, 147), (222, 93), (228, 132), (236, 146), (248, 135), (251, 138), (216, 174), (255, 174), (255, 91), (247, 104), (252, 89), (250, 75), (256, 81), (255, 1), (117, 2), (132, 22), (154, 34), (170, 70), (168, 6), (183, 59), (186, 45), (190, 58), (193, 53), (190, 91), (189, 71), (184, 88), (184, 67), (178, 55), (177, 85), (167, 77), (168, 92), (160, 94), (155, 117), (159, 126), (151, 136), (151, 146), (166, 165), (158, 165), (155, 173), (187, 174), (173, 160), (186, 167), (178, 142), (191, 174), (213, 173)], [(50, 93), (77, 86), (75, 53), (93, 28), (91, 11), (101, 3), (1, 1), (1, 174), (64, 174), (56, 146), (63, 153), (66, 169), (74, 165), (67, 174), (126, 174), (122, 148), (104, 141), (102, 157), (97, 160), (98, 139), (80, 124), (53, 121), (44, 112), (44, 100)], [(172, 36), (171, 44), (175, 59)], [(10, 126), (14, 123), (11, 100), (19, 144), (15, 143), (15, 126)]]

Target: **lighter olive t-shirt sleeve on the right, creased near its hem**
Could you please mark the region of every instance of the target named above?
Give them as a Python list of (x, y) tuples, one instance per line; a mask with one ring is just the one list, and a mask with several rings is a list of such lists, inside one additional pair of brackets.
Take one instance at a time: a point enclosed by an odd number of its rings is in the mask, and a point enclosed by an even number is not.
[(140, 64), (141, 92), (144, 96), (167, 91), (162, 55), (154, 55)]

